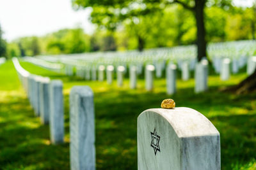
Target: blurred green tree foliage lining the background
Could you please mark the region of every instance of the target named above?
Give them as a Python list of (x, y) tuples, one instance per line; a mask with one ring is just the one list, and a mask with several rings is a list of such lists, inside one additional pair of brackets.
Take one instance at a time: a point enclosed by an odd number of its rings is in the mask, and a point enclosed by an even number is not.
[[(234, 6), (230, 0), (200, 1), (204, 1), (203, 43), (255, 39), (256, 5), (245, 8)], [(6, 43), (0, 27), (0, 56), (143, 50), (198, 42), (195, 11), (190, 9), (195, 10), (195, 0), (72, 3), (76, 10), (92, 7), (90, 20), (97, 26), (93, 34), (76, 27)]]

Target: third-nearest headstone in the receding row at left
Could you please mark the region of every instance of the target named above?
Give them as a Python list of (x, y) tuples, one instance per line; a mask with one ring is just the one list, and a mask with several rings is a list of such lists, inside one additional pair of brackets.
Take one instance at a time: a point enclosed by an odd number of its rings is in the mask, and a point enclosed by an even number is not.
[(40, 119), (42, 124), (49, 123), (49, 112), (50, 112), (50, 78), (45, 77), (40, 82)]

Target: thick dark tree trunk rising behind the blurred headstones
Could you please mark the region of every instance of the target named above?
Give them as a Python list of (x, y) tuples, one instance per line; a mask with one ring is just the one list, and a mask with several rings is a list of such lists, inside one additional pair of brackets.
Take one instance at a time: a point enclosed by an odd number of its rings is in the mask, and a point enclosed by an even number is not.
[(197, 29), (197, 60), (206, 57), (205, 25), (204, 25), (205, 0), (195, 0), (195, 18)]

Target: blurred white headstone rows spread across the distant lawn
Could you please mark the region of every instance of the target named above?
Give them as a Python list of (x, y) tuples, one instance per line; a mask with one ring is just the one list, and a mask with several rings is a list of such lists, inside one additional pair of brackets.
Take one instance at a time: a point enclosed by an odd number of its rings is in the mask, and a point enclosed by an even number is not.
[[(125, 76), (129, 76), (131, 89), (136, 89), (137, 79), (145, 78), (145, 89), (154, 89), (154, 78), (166, 77), (166, 92), (174, 94), (177, 91), (177, 72), (186, 81), (195, 78), (195, 92), (208, 89), (209, 62), (221, 80), (230, 78), (246, 67), (248, 75), (256, 68), (255, 41), (235, 41), (209, 45), (209, 59), (196, 59), (195, 46), (179, 46), (175, 48), (160, 48), (145, 52), (106, 52), (83, 53), (79, 55), (57, 55), (26, 57), (25, 60), (38, 66), (51, 69), (68, 76), (77, 76), (84, 80), (106, 80), (122, 87)], [(194, 75), (192, 75), (194, 74)]]

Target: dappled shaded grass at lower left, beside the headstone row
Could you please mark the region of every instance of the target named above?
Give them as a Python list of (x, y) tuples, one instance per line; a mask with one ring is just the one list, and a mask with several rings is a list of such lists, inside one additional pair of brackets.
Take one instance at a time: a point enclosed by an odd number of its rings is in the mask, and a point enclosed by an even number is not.
[[(12, 97), (10, 97), (12, 99)], [(0, 169), (69, 169), (68, 143), (50, 145), (49, 126), (40, 125), (28, 99), (1, 103)]]

